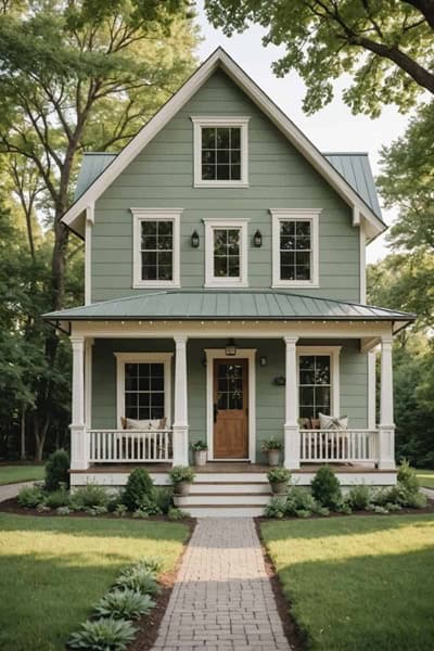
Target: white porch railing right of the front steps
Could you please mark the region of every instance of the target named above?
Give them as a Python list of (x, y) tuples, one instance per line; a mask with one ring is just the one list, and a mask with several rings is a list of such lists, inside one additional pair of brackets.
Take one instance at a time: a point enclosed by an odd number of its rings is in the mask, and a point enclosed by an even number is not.
[(301, 461), (370, 461), (379, 459), (378, 430), (301, 430)]

